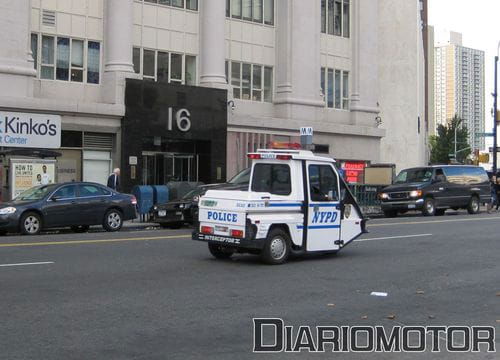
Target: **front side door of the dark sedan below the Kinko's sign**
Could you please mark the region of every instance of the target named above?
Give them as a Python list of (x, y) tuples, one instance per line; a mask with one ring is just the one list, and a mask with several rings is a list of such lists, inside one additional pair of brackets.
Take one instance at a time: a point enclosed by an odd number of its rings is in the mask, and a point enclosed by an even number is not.
[(42, 208), (44, 227), (78, 225), (81, 208), (77, 204), (77, 186), (64, 185), (50, 195)]

